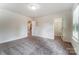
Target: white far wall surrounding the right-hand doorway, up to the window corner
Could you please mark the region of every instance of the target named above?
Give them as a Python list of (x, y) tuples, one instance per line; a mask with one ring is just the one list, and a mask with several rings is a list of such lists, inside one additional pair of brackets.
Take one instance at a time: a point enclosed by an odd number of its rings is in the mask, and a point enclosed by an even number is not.
[(71, 10), (65, 10), (65, 11), (54, 13), (52, 15), (35, 18), (34, 20), (36, 21), (36, 30), (35, 30), (34, 35), (54, 39), (54, 23), (53, 22), (56, 18), (63, 19), (63, 40), (70, 42), (71, 34), (72, 34)]

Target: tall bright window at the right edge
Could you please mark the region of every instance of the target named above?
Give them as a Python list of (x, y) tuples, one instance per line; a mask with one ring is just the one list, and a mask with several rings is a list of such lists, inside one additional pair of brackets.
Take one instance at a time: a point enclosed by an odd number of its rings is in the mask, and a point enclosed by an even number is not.
[(79, 21), (79, 5), (73, 12), (73, 39), (78, 42), (78, 21)]

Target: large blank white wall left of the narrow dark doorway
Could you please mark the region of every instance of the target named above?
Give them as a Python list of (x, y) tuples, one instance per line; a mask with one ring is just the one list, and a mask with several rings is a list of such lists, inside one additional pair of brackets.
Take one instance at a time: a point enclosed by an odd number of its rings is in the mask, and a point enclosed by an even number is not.
[(0, 43), (27, 36), (24, 20), (27, 17), (0, 9)]

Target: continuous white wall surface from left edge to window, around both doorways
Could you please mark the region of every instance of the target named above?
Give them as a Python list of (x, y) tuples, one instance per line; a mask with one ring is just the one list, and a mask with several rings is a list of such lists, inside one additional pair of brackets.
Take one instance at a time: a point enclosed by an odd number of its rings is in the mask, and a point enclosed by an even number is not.
[(71, 39), (70, 11), (71, 10), (61, 11), (52, 15), (32, 19), (18, 13), (0, 9), (0, 27), (4, 27), (2, 29), (0, 28), (0, 43), (27, 37), (27, 21), (30, 19), (33, 20), (34, 23), (32, 35), (54, 39), (53, 21), (61, 17), (64, 20), (63, 40), (69, 41)]

